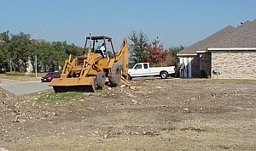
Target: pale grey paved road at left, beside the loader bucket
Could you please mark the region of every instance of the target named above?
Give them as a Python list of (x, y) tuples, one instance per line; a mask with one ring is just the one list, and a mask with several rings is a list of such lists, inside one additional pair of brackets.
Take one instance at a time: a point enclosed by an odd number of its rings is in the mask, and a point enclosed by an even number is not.
[(0, 78), (0, 87), (3, 89), (14, 93), (15, 95), (28, 94), (31, 92), (40, 92), (47, 89), (51, 89), (49, 87), (48, 82), (41, 81), (14, 81)]

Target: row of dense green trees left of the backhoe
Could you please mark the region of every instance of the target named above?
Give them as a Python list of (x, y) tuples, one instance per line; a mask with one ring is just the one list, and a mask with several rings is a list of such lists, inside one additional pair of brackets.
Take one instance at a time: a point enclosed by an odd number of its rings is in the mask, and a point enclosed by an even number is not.
[(54, 71), (63, 66), (69, 54), (73, 59), (82, 55), (83, 49), (67, 42), (45, 42), (44, 40), (30, 39), (29, 34), (9, 34), (9, 31), (0, 33), (0, 64), (8, 64), (9, 70), (26, 72), (26, 63), (31, 62), (35, 70), (37, 56), (38, 70)]

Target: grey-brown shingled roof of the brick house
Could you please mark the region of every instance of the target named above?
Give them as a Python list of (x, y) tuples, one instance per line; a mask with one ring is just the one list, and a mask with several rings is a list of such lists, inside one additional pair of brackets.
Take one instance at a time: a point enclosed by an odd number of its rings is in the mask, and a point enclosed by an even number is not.
[(256, 20), (246, 21), (237, 27), (231, 25), (216, 32), (206, 39), (196, 42), (177, 55), (195, 55), (196, 51), (207, 50), (207, 48), (243, 48), (256, 47)]

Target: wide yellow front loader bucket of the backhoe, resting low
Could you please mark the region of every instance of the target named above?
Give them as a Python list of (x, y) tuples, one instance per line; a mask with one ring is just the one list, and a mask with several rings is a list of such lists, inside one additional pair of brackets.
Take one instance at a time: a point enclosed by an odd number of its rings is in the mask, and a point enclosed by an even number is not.
[(55, 78), (49, 86), (55, 92), (96, 92), (96, 79), (94, 76), (83, 78)]

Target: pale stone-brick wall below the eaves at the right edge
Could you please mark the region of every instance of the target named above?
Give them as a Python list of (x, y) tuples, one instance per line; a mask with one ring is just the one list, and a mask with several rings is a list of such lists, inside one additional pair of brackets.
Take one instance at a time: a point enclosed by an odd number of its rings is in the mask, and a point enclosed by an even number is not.
[[(218, 69), (219, 74), (213, 70)], [(212, 52), (212, 79), (256, 79), (256, 51)]]

